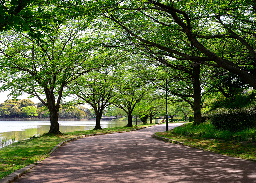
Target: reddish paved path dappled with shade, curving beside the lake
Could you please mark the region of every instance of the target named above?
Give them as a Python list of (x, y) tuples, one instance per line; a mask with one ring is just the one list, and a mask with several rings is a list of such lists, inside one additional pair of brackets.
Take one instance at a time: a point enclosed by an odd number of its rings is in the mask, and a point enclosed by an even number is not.
[(256, 183), (255, 162), (161, 141), (157, 131), (165, 125), (69, 142), (15, 183)]

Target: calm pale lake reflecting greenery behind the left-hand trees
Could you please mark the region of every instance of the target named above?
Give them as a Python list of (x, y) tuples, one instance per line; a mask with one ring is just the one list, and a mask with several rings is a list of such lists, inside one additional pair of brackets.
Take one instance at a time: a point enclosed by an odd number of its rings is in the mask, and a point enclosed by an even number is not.
[[(101, 128), (125, 126), (123, 121), (101, 121)], [(95, 127), (95, 120), (59, 121), (61, 132), (91, 130)], [(12, 142), (40, 136), (48, 132), (50, 121), (0, 121), (0, 148)], [(14, 138), (15, 136), (15, 138)]]

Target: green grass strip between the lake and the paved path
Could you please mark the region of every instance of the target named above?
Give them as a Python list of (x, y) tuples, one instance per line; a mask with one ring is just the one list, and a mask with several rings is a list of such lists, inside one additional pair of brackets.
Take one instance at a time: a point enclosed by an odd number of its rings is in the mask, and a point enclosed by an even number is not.
[(92, 133), (128, 131), (150, 125), (152, 124), (106, 128), (103, 130), (76, 131), (62, 133), (61, 135), (44, 134), (40, 137), (14, 142), (0, 149), (0, 179), (38, 160), (45, 159), (49, 156), (49, 152), (53, 147), (67, 139)]

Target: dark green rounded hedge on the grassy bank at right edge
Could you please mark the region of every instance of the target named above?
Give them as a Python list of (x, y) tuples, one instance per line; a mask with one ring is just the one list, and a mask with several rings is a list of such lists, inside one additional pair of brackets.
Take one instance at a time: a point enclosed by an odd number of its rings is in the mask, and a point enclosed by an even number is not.
[(212, 124), (219, 130), (241, 131), (256, 126), (256, 106), (239, 109), (220, 108), (209, 116)]

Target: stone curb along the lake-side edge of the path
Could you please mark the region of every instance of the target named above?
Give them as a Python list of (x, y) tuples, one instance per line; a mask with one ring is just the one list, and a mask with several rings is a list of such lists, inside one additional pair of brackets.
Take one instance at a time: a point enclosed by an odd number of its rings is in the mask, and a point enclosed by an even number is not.
[[(159, 124), (156, 124), (159, 125)], [(151, 126), (155, 126), (155, 125), (151, 125)], [(121, 131), (121, 132), (113, 132), (113, 133), (92, 133), (92, 134), (87, 134), (87, 135), (81, 135), (78, 137), (74, 137), (72, 139), (68, 139), (65, 140), (63, 142), (60, 142), (58, 145), (56, 145), (55, 147), (53, 147), (53, 149), (51, 150), (51, 152), (49, 153), (49, 155), (51, 155), (56, 149), (58, 149), (60, 146), (62, 146), (63, 144), (67, 143), (67, 142), (71, 142), (74, 141), (76, 139), (80, 139), (83, 137), (90, 137), (90, 136), (96, 136), (96, 135), (106, 135), (106, 134), (114, 134), (114, 133), (126, 133), (126, 132), (130, 132), (130, 131), (136, 131), (136, 130), (141, 130), (143, 128), (148, 128), (151, 126), (145, 126), (142, 128), (138, 128), (138, 129), (134, 129), (134, 130), (129, 130), (129, 131)], [(18, 179), (19, 177), (21, 177), (24, 173), (28, 172), (31, 168), (33, 168), (34, 166), (36, 166), (38, 163), (40, 163), (42, 160), (36, 161), (33, 164), (30, 164), (24, 168), (18, 169), (15, 172), (11, 173), (10, 175), (7, 175), (6, 177), (0, 179), (0, 183), (11, 183), (13, 181), (15, 181), (16, 179)]]

